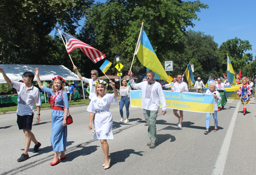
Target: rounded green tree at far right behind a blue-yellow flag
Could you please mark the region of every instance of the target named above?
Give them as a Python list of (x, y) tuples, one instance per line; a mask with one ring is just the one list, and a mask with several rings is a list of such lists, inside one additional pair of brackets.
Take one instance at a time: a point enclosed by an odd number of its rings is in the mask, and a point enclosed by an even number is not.
[(251, 50), (251, 47), (252, 45), (250, 45), (248, 40), (242, 40), (237, 37), (223, 42), (219, 48), (223, 72), (226, 72), (227, 70), (227, 54), (234, 72), (239, 72), (248, 61), (252, 61), (252, 54), (245, 53), (246, 51)]

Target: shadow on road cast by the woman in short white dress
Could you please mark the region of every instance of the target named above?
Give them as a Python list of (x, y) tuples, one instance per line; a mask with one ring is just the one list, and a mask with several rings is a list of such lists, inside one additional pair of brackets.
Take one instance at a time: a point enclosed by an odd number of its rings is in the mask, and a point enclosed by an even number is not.
[(112, 152), (110, 154), (111, 157), (111, 166), (118, 163), (118, 162), (125, 162), (126, 158), (129, 158), (131, 154), (143, 156), (141, 152), (144, 151), (138, 151), (136, 152), (134, 149), (124, 149), (121, 151)]

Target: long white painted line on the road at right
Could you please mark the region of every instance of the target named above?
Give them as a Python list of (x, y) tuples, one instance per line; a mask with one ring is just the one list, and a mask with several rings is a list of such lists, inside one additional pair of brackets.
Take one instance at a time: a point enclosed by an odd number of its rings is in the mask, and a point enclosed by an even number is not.
[(228, 149), (230, 146), (230, 142), (231, 142), (231, 138), (234, 130), (234, 124), (236, 124), (236, 120), (238, 116), (239, 106), (240, 106), (240, 102), (237, 103), (236, 109), (234, 110), (233, 116), (227, 128), (227, 133), (223, 140), (223, 143), (219, 152), (219, 156), (215, 163), (214, 170), (211, 173), (212, 175), (223, 174), (225, 164), (226, 164)]

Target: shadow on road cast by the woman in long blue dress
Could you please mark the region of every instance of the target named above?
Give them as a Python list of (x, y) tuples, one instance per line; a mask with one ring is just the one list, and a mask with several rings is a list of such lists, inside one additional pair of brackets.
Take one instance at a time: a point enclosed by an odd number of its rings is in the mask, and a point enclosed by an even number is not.
[(67, 159), (62, 160), (62, 162), (71, 162), (72, 160), (74, 160), (75, 158), (79, 157), (79, 156), (87, 156), (92, 154), (93, 152), (95, 152), (97, 150), (97, 147), (100, 146), (82, 146), (82, 145), (78, 145), (77, 148), (82, 148), (79, 150), (75, 150), (72, 152), (69, 152), (66, 157)]

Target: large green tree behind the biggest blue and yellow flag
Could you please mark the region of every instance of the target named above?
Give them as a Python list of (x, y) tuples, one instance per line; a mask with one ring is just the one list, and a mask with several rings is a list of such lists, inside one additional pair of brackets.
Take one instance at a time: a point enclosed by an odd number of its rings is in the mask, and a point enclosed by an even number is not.
[[(186, 27), (194, 26), (192, 20), (198, 19), (196, 12), (202, 8), (208, 6), (200, 1), (110, 0), (88, 9), (80, 38), (88, 40), (89, 45), (103, 52), (113, 64), (116, 64), (114, 56), (122, 53), (122, 63), (129, 65), (144, 22), (145, 32), (158, 58), (163, 61), (166, 52), (182, 48), (180, 40)], [(137, 63), (135, 59), (134, 64)], [(124, 69), (129, 70), (130, 66)]]

